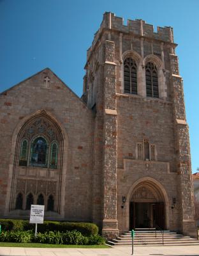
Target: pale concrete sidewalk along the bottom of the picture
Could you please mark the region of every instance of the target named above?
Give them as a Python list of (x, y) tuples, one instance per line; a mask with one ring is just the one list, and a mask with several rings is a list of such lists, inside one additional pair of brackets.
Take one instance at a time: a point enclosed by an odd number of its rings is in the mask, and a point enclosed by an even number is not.
[[(0, 247), (1, 256), (106, 256), (131, 255), (130, 247), (87, 248), (9, 248)], [(135, 246), (134, 255), (199, 255), (199, 246)]]

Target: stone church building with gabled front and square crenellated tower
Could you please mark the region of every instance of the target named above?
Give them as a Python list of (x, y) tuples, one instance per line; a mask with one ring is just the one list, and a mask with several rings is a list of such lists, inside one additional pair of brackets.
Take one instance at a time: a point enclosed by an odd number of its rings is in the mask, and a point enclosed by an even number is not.
[(195, 236), (189, 131), (173, 29), (105, 13), (81, 99), (52, 70), (0, 95), (0, 217), (158, 225)]

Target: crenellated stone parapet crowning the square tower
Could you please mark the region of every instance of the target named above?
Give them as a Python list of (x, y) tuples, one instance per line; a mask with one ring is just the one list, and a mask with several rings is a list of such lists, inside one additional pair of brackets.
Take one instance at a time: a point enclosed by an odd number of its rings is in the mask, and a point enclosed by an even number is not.
[(145, 23), (144, 20), (128, 20), (127, 26), (124, 25), (124, 19), (115, 16), (115, 13), (105, 12), (103, 14), (103, 20), (101, 22), (100, 28), (94, 34), (94, 40), (92, 41), (91, 47), (87, 50), (87, 60), (91, 56), (91, 52), (94, 49), (96, 42), (98, 42), (99, 36), (104, 29), (112, 29), (119, 31), (120, 33), (131, 33), (138, 37), (151, 38), (151, 40), (158, 40), (168, 44), (172, 44), (176, 47), (177, 44), (173, 42), (173, 28), (172, 27), (158, 27), (157, 33), (154, 32), (154, 26)]

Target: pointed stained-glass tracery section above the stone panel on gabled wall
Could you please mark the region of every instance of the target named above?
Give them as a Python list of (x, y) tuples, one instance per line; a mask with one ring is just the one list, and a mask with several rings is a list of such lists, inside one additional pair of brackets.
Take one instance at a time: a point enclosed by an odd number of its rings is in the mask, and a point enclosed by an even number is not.
[(58, 138), (53, 127), (45, 120), (37, 119), (20, 139), (18, 165), (57, 169)]

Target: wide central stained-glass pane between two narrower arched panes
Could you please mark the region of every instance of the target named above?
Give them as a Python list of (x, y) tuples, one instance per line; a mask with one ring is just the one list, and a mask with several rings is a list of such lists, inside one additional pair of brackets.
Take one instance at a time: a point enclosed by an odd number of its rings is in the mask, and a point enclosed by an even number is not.
[(38, 137), (31, 143), (31, 158), (32, 166), (47, 167), (48, 165), (48, 143), (43, 137)]

